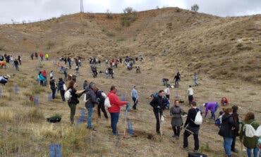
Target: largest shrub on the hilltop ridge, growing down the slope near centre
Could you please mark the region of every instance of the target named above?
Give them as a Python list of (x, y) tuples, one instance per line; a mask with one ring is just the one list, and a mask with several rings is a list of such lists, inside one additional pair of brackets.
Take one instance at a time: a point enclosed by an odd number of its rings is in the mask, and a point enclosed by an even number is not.
[(138, 18), (136, 11), (131, 7), (127, 7), (123, 10), (123, 15), (121, 16), (121, 25), (130, 26)]

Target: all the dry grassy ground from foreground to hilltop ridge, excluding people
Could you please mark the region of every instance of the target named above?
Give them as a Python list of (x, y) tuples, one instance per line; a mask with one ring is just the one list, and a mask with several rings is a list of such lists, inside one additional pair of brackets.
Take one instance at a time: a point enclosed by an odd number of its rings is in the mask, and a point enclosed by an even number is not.
[[(162, 78), (173, 84), (177, 71), (181, 72), (178, 89), (171, 89), (171, 106), (174, 99), (184, 99), (181, 107), (188, 111), (186, 89), (193, 84), (193, 73), (198, 72), (200, 86), (195, 89), (195, 101), (199, 105), (207, 101), (218, 101), (226, 96), (231, 106), (239, 107), (240, 118), (248, 111), (261, 119), (261, 15), (219, 18), (202, 13), (192, 13), (180, 8), (162, 8), (137, 13), (137, 20), (129, 27), (121, 26), (122, 14), (113, 14), (108, 19), (102, 13), (77, 13), (63, 15), (37, 23), (0, 25), (0, 54), (6, 52), (15, 57), (22, 56), (20, 71), (11, 65), (0, 68), (1, 75), (11, 75), (6, 86), (0, 86), (0, 156), (49, 156), (49, 144), (61, 143), (62, 156), (187, 156), (182, 150), (183, 139), (171, 138), (171, 117), (164, 111), (166, 121), (162, 125), (163, 135), (155, 132), (155, 119), (148, 98), (152, 92), (164, 89)], [(49, 44), (48, 44), (49, 43)], [(50, 49), (49, 47), (50, 46)], [(166, 49), (166, 56), (162, 55)], [(51, 61), (30, 60), (32, 52), (49, 52)], [(141, 73), (126, 70), (119, 64), (114, 69), (115, 78), (106, 79), (104, 73), (93, 78), (87, 58), (124, 58), (143, 54), (145, 61), (138, 61)], [(35, 84), (39, 70), (54, 70), (57, 78), (63, 77), (56, 68), (61, 56), (83, 56), (83, 66), (77, 77), (78, 89), (83, 80), (96, 82), (97, 87), (109, 92), (112, 84), (119, 89), (119, 97), (126, 94), (126, 101), (133, 103), (130, 91), (136, 85), (139, 92), (138, 111), (130, 111), (128, 120), (133, 123), (134, 136), (123, 138), (124, 109), (121, 108), (118, 130), (111, 134), (110, 120), (97, 118), (95, 108), (93, 125), (96, 132), (82, 125), (69, 123), (69, 107), (56, 99), (48, 101), (51, 93), (47, 87)], [(61, 63), (63, 66), (64, 63)], [(68, 67), (68, 66), (67, 66)], [(73, 69), (75, 65), (73, 65)], [(97, 66), (104, 70), (102, 62)], [(75, 73), (68, 70), (69, 74)], [(66, 82), (67, 83), (67, 82)], [(15, 94), (14, 86), (18, 86)], [(178, 97), (176, 98), (176, 95)], [(35, 107), (30, 96), (39, 97)], [(83, 96), (76, 109), (85, 108)], [(221, 111), (218, 109), (216, 115)], [(61, 123), (46, 122), (50, 115), (62, 115)], [(200, 151), (210, 157), (224, 156), (223, 139), (218, 127), (205, 119), (200, 127)], [(181, 133), (181, 136), (183, 131)], [(236, 142), (236, 148), (241, 144)], [(193, 137), (189, 137), (189, 151), (193, 150)], [(236, 157), (246, 156), (234, 153)]]

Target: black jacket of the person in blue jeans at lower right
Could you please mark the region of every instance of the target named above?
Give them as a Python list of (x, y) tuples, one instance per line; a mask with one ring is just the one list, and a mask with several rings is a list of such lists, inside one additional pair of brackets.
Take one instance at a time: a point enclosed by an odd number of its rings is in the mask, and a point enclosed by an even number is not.
[(235, 136), (235, 127), (236, 123), (233, 120), (233, 116), (229, 114), (224, 114), (222, 115), (222, 123), (219, 130), (219, 135), (221, 137), (233, 138)]

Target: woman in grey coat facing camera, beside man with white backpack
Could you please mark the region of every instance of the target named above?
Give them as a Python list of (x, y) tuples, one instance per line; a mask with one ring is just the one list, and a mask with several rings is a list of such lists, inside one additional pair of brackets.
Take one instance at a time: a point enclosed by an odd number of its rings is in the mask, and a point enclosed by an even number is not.
[(182, 117), (181, 115), (184, 115), (184, 111), (179, 106), (179, 101), (175, 100), (175, 105), (171, 107), (170, 109), (170, 115), (171, 115), (171, 126), (174, 131), (174, 135), (172, 137), (176, 137), (176, 139), (179, 138), (179, 135), (181, 133), (181, 126), (183, 125)]

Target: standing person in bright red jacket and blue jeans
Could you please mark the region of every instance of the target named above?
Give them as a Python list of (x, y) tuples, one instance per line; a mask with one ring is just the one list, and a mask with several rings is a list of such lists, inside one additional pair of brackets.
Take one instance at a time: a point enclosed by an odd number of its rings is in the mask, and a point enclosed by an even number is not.
[(119, 132), (117, 131), (117, 123), (119, 120), (119, 115), (121, 111), (121, 106), (126, 105), (126, 101), (120, 101), (118, 96), (116, 96), (116, 87), (111, 86), (111, 91), (107, 96), (109, 97), (109, 102), (111, 103), (111, 107), (108, 108), (109, 113), (111, 114), (111, 128), (112, 133), (116, 136), (119, 136)]

